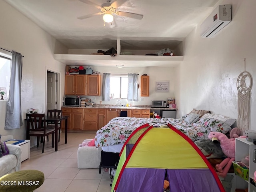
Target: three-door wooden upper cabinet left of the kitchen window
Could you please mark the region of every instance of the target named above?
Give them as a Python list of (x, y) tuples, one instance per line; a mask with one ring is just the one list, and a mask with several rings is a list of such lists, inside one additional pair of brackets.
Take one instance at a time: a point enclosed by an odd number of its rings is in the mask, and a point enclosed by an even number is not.
[(100, 96), (100, 76), (65, 75), (65, 95)]

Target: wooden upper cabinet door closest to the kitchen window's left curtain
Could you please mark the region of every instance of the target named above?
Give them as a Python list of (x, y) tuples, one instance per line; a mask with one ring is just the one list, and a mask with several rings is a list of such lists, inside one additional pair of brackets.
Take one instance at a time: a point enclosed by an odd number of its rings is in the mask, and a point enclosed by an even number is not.
[(87, 95), (100, 96), (100, 76), (87, 75)]

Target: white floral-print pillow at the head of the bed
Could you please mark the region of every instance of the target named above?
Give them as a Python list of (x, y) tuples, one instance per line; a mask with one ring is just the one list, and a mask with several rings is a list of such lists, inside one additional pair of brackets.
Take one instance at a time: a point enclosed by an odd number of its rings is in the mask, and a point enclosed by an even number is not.
[(223, 121), (213, 118), (200, 118), (198, 120), (198, 124), (205, 126), (209, 132), (215, 131), (226, 134), (231, 130), (231, 127), (225, 124)]

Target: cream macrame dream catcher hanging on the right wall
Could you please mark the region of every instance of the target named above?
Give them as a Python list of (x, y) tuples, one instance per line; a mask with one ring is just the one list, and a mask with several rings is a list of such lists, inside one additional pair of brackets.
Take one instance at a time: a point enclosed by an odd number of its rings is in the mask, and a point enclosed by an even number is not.
[(241, 131), (249, 129), (250, 123), (250, 98), (252, 90), (252, 75), (245, 71), (239, 74), (236, 81), (236, 88), (238, 90), (238, 119), (237, 125)]

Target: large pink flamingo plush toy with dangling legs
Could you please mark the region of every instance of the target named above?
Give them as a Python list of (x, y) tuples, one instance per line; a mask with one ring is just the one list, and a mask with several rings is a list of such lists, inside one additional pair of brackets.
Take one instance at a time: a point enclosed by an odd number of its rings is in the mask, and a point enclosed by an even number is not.
[[(219, 176), (226, 177), (232, 161), (235, 160), (235, 138), (229, 139), (225, 134), (220, 132), (210, 132), (208, 138), (212, 142), (220, 142), (222, 152), (227, 156), (226, 159), (215, 167)], [(245, 138), (245, 136), (240, 136), (239, 138)]]

